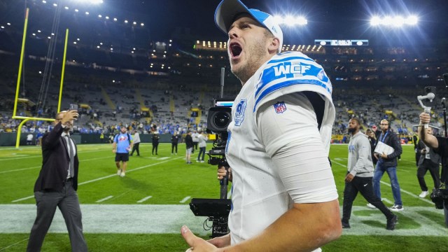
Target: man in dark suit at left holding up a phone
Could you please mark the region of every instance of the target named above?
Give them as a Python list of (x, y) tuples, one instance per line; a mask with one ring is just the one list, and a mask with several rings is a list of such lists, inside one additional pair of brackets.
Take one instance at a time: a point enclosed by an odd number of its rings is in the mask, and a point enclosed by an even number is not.
[(41, 251), (43, 239), (55, 216), (56, 207), (64, 216), (71, 251), (87, 251), (76, 189), (78, 188), (78, 151), (69, 131), (78, 111), (57, 113), (55, 127), (42, 138), (42, 168), (34, 185), (37, 216), (29, 235), (27, 251)]

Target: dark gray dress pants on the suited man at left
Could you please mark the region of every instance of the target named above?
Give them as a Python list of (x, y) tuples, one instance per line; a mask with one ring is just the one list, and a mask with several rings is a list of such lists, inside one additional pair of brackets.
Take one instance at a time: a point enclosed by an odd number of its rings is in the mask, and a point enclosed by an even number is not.
[(44, 190), (34, 193), (37, 215), (29, 235), (27, 251), (41, 251), (43, 239), (55, 216), (56, 207), (59, 207), (69, 231), (71, 251), (87, 251), (78, 195), (72, 183), (67, 181), (62, 191)]

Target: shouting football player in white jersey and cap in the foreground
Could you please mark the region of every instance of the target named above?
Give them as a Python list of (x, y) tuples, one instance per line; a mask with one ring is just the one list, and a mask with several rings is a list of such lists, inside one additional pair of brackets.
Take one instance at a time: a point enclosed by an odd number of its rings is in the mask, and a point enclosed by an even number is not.
[(225, 148), (230, 234), (205, 241), (186, 226), (181, 234), (195, 252), (321, 251), (342, 233), (328, 160), (330, 79), (301, 52), (280, 53), (283, 34), (272, 15), (223, 0), (215, 22), (228, 35), (231, 71), (242, 85)]

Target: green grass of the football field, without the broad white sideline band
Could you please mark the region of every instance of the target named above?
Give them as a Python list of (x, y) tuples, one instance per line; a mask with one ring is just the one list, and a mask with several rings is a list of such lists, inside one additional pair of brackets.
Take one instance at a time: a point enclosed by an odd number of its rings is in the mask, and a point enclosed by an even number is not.
[[(210, 146), (209, 146), (210, 147)], [(184, 144), (179, 144), (179, 155), (171, 155), (169, 144), (160, 144), (159, 155), (151, 155), (151, 144), (141, 144), (141, 157), (131, 157), (125, 178), (113, 176), (116, 167), (113, 162), (111, 145), (79, 145), (80, 175), (78, 195), (81, 204), (137, 204), (148, 195), (151, 199), (141, 204), (188, 204), (180, 203), (187, 196), (217, 198), (219, 184), (216, 180), (216, 168), (206, 163), (186, 165), (183, 160)], [(208, 150), (209, 148), (207, 148)], [(342, 204), (344, 176), (346, 174), (346, 145), (332, 145), (330, 158), (332, 170)], [(197, 153), (193, 155), (193, 159)], [(207, 159), (207, 158), (206, 158)], [(41, 150), (24, 146), (0, 148), (0, 204), (35, 204), (32, 189), (41, 166)], [(402, 158), (398, 165), (400, 187), (405, 211), (400, 212), (398, 230), (409, 231), (411, 235), (344, 235), (323, 247), (324, 251), (448, 251), (447, 235), (442, 237), (423, 236), (418, 232), (419, 222), (406, 216), (406, 208), (428, 207), (433, 204), (419, 200), (420, 188), (416, 179), (416, 167), (412, 146), (403, 146)], [(383, 180), (389, 183), (385, 174)], [(433, 186), (430, 176), (426, 177), (428, 187)], [(393, 201), (391, 188), (381, 184), (381, 197)], [(109, 195), (114, 197), (101, 203), (98, 200)], [(27, 198), (29, 197), (29, 198)], [(20, 200), (27, 198), (26, 200)], [(428, 199), (428, 198), (427, 198)], [(355, 206), (365, 206), (367, 202), (358, 195)], [(387, 203), (386, 203), (387, 204)], [(390, 206), (390, 204), (388, 204)], [(425, 216), (443, 227), (443, 216), (432, 211), (419, 210)], [(193, 214), (192, 214), (193, 215)], [(356, 211), (358, 216), (369, 216), (367, 210)], [(384, 221), (384, 220), (381, 220)], [(372, 218), (364, 221), (373, 229), (384, 229), (383, 224)], [(438, 224), (440, 223), (440, 224)], [(179, 223), (179, 228), (183, 223)], [(355, 225), (356, 226), (356, 225)], [(31, 228), (31, 225), (30, 225)], [(355, 227), (352, 223), (352, 230)], [(431, 228), (431, 227), (428, 227)], [(435, 228), (435, 227), (434, 227)], [(416, 234), (414, 232), (417, 230)], [(385, 230), (384, 230), (385, 231)], [(391, 234), (391, 235), (389, 235)], [(24, 251), (28, 233), (0, 234), (0, 251)], [(178, 234), (85, 234), (90, 251), (185, 251), (188, 247)], [(49, 233), (45, 237), (43, 251), (70, 251), (66, 234)]]

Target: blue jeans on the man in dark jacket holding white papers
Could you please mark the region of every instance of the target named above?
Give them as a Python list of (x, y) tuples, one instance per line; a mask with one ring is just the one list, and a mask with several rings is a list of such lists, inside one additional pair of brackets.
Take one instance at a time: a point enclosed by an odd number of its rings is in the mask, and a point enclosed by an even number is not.
[(384, 172), (387, 172), (389, 179), (391, 180), (392, 195), (393, 200), (395, 201), (394, 204), (402, 206), (403, 203), (401, 201), (400, 184), (398, 183), (397, 178), (397, 167), (385, 167), (384, 162), (382, 161), (377, 162), (377, 167), (375, 167), (375, 171), (373, 173), (373, 191), (375, 195), (381, 199), (379, 181), (381, 181)]

